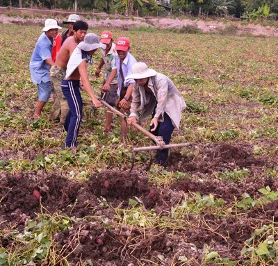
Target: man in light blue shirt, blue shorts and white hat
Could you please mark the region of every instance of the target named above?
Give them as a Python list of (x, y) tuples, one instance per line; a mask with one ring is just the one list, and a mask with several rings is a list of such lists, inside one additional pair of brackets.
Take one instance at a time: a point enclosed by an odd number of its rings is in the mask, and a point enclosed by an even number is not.
[(38, 103), (35, 107), (35, 113), (33, 118), (39, 118), (42, 115), (42, 108), (49, 100), (49, 96), (52, 90), (49, 68), (54, 65), (51, 58), (51, 51), (53, 47), (53, 40), (58, 33), (58, 26), (55, 19), (46, 19), (44, 22), (44, 28), (42, 28), (42, 35), (38, 38), (38, 42), (35, 44), (31, 61), (30, 61), (30, 73), (33, 83), (38, 87)]

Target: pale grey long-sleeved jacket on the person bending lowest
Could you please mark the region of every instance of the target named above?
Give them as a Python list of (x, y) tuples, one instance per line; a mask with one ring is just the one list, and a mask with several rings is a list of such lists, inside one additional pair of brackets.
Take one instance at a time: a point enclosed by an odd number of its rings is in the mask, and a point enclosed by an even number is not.
[(136, 84), (133, 87), (129, 117), (140, 116), (140, 123), (142, 123), (155, 110), (154, 117), (158, 118), (159, 122), (163, 122), (163, 115), (166, 112), (173, 126), (179, 128), (181, 111), (186, 108), (186, 103), (174, 83), (167, 76), (156, 73), (155, 76), (149, 77), (148, 88), (152, 90), (153, 95), (146, 93), (142, 86)]

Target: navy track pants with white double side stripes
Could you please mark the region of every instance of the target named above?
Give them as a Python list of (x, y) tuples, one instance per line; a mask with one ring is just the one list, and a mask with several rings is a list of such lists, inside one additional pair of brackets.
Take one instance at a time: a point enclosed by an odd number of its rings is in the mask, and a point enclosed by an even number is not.
[(64, 128), (67, 131), (65, 147), (77, 147), (77, 136), (82, 119), (82, 99), (79, 91), (79, 81), (63, 80), (62, 91), (67, 99), (70, 111), (67, 113)]

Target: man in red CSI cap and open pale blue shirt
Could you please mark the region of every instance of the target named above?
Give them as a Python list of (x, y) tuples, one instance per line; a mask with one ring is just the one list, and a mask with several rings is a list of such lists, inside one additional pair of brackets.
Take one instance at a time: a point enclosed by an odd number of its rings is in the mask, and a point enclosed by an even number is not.
[[(115, 50), (116, 67), (117, 67), (117, 84), (118, 84), (118, 99), (117, 108), (122, 113), (129, 114), (129, 108), (131, 104), (131, 94), (133, 90), (133, 79), (129, 79), (124, 82), (124, 78), (131, 74), (131, 67), (136, 63), (136, 59), (129, 53), (130, 42), (129, 38), (119, 38), (116, 42)], [(124, 142), (127, 136), (128, 127), (123, 117), (121, 117), (121, 141)]]

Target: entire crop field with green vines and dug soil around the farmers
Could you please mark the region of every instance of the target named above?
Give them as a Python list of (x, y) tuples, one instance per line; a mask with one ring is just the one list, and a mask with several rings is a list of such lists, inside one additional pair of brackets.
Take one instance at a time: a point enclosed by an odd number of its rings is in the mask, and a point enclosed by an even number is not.
[(84, 106), (76, 153), (61, 149), (53, 103), (30, 119), (37, 94), (28, 62), (44, 20), (8, 19), (0, 24), (0, 265), (277, 265), (277, 38), (113, 28), (188, 104), (171, 142), (190, 146), (172, 149), (166, 167), (137, 154), (130, 172), (132, 148), (152, 142), (131, 130), (122, 147), (117, 119), (103, 132), (104, 108)]

